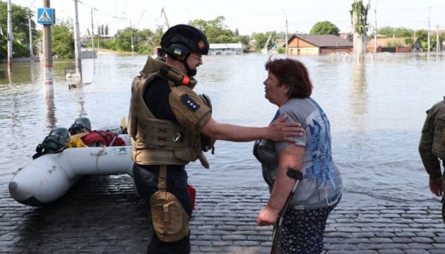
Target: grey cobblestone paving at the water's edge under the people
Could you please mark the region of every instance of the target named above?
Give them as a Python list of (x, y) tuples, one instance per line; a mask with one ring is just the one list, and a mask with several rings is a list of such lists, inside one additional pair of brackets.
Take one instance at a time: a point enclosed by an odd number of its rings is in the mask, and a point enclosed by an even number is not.
[[(29, 207), (0, 181), (0, 253), (146, 253), (150, 224), (129, 176), (87, 176), (57, 202)], [(266, 186), (200, 186), (192, 253), (269, 253), (272, 229), (256, 226)], [(363, 198), (363, 199), (362, 199)], [(445, 253), (440, 204), (366, 200), (345, 193), (328, 219), (327, 254)]]

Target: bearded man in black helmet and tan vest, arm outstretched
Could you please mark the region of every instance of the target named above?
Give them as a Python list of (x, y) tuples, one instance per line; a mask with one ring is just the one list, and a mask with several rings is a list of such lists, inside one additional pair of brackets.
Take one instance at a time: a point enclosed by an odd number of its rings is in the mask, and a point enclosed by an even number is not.
[(153, 223), (147, 253), (190, 253), (191, 195), (184, 166), (212, 150), (215, 140), (295, 140), (299, 123), (281, 117), (268, 127), (218, 123), (210, 98), (193, 88), (196, 69), (208, 54), (205, 35), (191, 25), (175, 25), (162, 36), (164, 61), (148, 56), (131, 87), (128, 131), (133, 145), (133, 181)]

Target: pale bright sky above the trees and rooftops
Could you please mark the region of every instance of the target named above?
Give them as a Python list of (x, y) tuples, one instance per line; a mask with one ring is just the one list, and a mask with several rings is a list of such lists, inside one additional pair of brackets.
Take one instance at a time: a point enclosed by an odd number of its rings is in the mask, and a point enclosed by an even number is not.
[[(2, 0), (8, 1), (8, 0)], [(12, 4), (29, 7), (35, 11), (43, 7), (45, 0), (10, 0)], [(165, 25), (165, 16), (170, 26), (188, 23), (189, 20), (214, 20), (224, 16), (228, 29), (239, 35), (254, 32), (309, 33), (317, 22), (328, 20), (340, 32), (351, 30), (350, 9), (354, 0), (275, 0), (275, 1), (196, 1), (196, 0), (81, 0), (78, 1), (79, 30), (87, 28), (97, 33), (97, 24), (108, 25), (109, 34), (117, 30), (148, 28), (154, 31)], [(267, 4), (266, 4), (267, 3)], [(364, 0), (364, 3), (367, 3)], [(51, 0), (50, 8), (56, 9), (57, 19), (75, 20), (73, 0)], [(413, 30), (445, 29), (444, 0), (369, 0), (369, 25), (377, 29), (385, 26)], [(91, 10), (93, 9), (93, 15)], [(165, 16), (161, 16), (162, 9)], [(93, 22), (92, 22), (93, 20)], [(287, 21), (287, 25), (286, 25)], [(35, 18), (37, 23), (37, 17)], [(41, 25), (37, 25), (41, 29)]]

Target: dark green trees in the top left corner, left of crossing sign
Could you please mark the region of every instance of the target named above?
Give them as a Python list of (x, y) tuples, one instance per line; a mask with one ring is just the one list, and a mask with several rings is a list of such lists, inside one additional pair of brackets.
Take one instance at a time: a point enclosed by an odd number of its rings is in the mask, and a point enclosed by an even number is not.
[[(11, 20), (13, 23), (13, 57), (30, 56), (28, 43), (29, 43), (29, 20), (31, 17), (31, 31), (32, 38), (35, 39), (37, 30), (34, 22), (34, 12), (28, 8), (18, 6), (16, 4), (11, 5)], [(0, 1), (0, 26), (4, 35), (0, 35), (0, 59), (8, 57), (8, 3)], [(35, 44), (36, 40), (33, 40)]]

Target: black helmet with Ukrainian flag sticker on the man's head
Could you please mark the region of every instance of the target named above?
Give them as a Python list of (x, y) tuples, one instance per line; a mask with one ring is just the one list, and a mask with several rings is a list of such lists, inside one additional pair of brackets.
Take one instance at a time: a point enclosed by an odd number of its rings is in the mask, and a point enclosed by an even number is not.
[(206, 35), (191, 25), (174, 25), (165, 32), (160, 45), (173, 56), (187, 56), (191, 52), (208, 54)]

